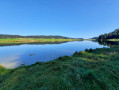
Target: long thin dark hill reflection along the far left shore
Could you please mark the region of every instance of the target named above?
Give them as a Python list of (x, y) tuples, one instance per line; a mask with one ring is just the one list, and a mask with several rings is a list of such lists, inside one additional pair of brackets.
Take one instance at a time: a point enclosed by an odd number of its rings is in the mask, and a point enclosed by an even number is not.
[(62, 41), (62, 42), (33, 42), (33, 43), (2, 43), (0, 44), (1, 46), (18, 46), (22, 44), (30, 44), (30, 45), (45, 45), (45, 44), (61, 44), (61, 43), (66, 43), (68, 41)]

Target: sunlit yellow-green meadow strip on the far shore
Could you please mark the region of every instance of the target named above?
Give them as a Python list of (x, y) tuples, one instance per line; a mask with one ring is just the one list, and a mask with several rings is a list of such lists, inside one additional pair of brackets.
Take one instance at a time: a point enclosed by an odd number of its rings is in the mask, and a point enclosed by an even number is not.
[(32, 43), (32, 42), (62, 42), (62, 41), (78, 41), (81, 39), (25, 39), (25, 38), (6, 38), (0, 39), (0, 44), (2, 43)]

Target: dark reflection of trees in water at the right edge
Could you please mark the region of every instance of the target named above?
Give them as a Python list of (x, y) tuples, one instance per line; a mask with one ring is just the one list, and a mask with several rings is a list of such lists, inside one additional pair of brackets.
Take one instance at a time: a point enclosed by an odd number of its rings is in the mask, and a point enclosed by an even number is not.
[(114, 41), (98, 41), (98, 43), (108, 47), (119, 47), (119, 42)]

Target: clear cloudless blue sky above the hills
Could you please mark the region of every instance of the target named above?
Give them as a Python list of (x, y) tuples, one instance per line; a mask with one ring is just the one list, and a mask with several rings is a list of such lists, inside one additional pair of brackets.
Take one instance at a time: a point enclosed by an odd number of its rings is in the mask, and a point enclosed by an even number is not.
[(0, 0), (0, 34), (91, 38), (119, 28), (119, 0)]

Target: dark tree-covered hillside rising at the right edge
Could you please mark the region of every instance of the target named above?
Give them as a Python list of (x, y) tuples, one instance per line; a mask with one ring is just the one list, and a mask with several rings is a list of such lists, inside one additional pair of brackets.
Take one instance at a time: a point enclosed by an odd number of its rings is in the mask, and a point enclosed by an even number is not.
[(119, 29), (116, 29), (115, 31), (111, 32), (111, 33), (106, 33), (103, 35), (100, 35), (98, 37), (98, 39), (119, 39)]

